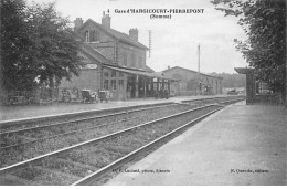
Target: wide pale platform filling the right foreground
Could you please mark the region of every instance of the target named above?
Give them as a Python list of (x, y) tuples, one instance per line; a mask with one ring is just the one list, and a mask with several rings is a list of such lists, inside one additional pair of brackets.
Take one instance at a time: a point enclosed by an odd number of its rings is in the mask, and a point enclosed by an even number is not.
[(231, 105), (127, 170), (132, 169), (153, 172), (121, 172), (106, 185), (286, 185), (286, 112), (278, 106)]

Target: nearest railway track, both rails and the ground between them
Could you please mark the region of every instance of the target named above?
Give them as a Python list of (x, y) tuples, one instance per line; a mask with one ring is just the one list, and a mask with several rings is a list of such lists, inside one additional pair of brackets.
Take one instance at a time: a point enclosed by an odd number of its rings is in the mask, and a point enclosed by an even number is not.
[(109, 167), (108, 165), (191, 119), (219, 108), (221, 107), (217, 105), (209, 105), (189, 109), (1, 168), (1, 185), (75, 183), (83, 177), (91, 178), (95, 172)]

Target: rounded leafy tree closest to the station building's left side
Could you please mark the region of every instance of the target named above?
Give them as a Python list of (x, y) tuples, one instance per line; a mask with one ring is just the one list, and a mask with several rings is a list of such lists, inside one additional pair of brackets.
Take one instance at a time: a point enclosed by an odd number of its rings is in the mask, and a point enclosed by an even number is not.
[(54, 9), (54, 3), (34, 4), (29, 8), (29, 23), (32, 27), (34, 69), (40, 83), (50, 87), (65, 77), (78, 76), (82, 66), (77, 55), (79, 43), (68, 28), (68, 20)]

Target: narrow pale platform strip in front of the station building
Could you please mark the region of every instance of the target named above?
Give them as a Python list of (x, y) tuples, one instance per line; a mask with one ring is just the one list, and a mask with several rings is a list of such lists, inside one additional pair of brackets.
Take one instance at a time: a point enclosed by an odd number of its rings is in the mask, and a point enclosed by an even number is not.
[(156, 104), (164, 102), (181, 102), (184, 99), (223, 97), (226, 95), (204, 95), (204, 96), (178, 96), (169, 99), (135, 98), (129, 101), (109, 101), (108, 103), (54, 103), (52, 105), (34, 106), (0, 106), (0, 122), (22, 118), (34, 118), (41, 116), (53, 116), (66, 113), (77, 113), (84, 111), (106, 109), (113, 107), (125, 107), (144, 104)]

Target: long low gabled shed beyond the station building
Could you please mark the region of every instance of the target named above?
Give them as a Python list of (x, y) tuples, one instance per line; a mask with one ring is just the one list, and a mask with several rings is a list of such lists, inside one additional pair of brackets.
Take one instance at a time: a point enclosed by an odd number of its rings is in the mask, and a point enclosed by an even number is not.
[(178, 81), (170, 86), (171, 91), (176, 91), (176, 95), (222, 94), (222, 77), (179, 66), (169, 67), (162, 74)]

